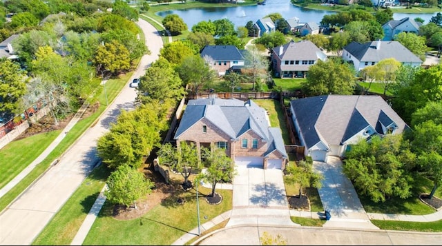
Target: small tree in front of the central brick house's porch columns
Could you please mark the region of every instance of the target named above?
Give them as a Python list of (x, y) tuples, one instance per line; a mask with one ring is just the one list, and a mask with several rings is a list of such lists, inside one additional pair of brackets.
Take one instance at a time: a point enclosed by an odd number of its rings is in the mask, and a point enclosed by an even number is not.
[(179, 147), (165, 143), (157, 152), (160, 163), (169, 165), (172, 170), (179, 172), (184, 178), (184, 189), (192, 187), (189, 181), (193, 169), (199, 166), (199, 155), (195, 143), (180, 142)]

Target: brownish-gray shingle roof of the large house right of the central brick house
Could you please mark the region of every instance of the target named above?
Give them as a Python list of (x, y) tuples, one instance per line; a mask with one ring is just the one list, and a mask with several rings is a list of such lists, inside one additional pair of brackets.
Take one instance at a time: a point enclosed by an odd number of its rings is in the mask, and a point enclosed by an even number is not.
[(307, 148), (319, 141), (340, 145), (368, 125), (376, 129), (379, 121), (385, 121), (385, 116), (396, 123), (397, 132), (408, 128), (381, 96), (325, 95), (290, 103)]

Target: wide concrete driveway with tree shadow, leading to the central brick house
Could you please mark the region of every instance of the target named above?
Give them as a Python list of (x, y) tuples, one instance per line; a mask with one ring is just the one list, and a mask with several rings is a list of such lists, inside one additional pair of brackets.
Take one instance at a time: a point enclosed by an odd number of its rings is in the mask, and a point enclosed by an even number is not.
[(282, 171), (236, 165), (233, 209), (227, 227), (233, 225), (296, 225), (290, 220)]

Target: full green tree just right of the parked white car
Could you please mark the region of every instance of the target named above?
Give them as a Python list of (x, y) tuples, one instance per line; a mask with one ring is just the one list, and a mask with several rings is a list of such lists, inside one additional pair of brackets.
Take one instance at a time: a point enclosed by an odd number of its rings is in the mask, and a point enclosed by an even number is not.
[(143, 103), (152, 99), (177, 100), (184, 96), (184, 86), (173, 65), (163, 57), (152, 63), (151, 68), (140, 78), (138, 93)]

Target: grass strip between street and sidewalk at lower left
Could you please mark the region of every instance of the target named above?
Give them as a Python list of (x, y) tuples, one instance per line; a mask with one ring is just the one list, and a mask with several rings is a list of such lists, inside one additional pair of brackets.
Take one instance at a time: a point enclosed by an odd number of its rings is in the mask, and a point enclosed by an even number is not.
[(110, 173), (106, 165), (95, 168), (32, 245), (70, 245)]

